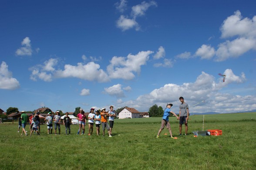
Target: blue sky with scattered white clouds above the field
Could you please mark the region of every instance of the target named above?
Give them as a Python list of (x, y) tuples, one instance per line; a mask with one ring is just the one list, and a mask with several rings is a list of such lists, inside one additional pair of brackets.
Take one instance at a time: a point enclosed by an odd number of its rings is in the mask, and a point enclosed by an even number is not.
[(148, 111), (171, 102), (178, 113), (183, 96), (192, 113), (254, 110), (255, 7), (249, 0), (1, 1), (0, 108)]

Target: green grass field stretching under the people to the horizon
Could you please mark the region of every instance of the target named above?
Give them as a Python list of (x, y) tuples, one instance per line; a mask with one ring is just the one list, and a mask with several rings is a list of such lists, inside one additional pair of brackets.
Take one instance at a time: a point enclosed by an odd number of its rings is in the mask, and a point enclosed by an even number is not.
[[(77, 135), (78, 125), (71, 125), (71, 135), (64, 135), (64, 126), (61, 135), (48, 135), (47, 126), (41, 125), (40, 136), (20, 136), (17, 122), (4, 122), (0, 124), (0, 169), (256, 169), (256, 113), (205, 115), (204, 130), (220, 129), (222, 136), (194, 137), (192, 131), (202, 131), (203, 115), (190, 118), (190, 134), (182, 137), (179, 121), (170, 118), (172, 134), (178, 139), (171, 139), (167, 129), (155, 138), (162, 118), (117, 119), (113, 137)], [(85, 130), (87, 134), (88, 125)]]

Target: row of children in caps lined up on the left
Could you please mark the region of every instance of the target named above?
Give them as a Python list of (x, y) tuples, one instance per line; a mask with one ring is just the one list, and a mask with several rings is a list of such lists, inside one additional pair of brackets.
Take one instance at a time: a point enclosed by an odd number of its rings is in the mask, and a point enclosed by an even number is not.
[[(88, 118), (86, 118), (84, 114), (84, 110), (81, 108), (80, 113), (77, 114), (77, 120), (78, 120), (78, 125), (79, 129), (77, 134), (84, 134), (84, 126), (86, 125), (86, 121), (88, 119), (88, 126), (89, 126), (89, 133), (88, 135), (91, 135), (93, 133), (93, 126), (94, 126), (94, 121), (96, 125), (96, 132), (97, 135), (100, 134), (100, 127), (102, 124), (102, 130), (103, 130), (103, 136), (105, 135), (105, 128), (108, 130), (108, 135), (109, 137), (112, 137), (112, 128), (114, 125), (114, 118), (116, 117), (115, 112), (113, 111), (113, 106), (110, 106), (110, 111), (106, 112), (105, 108), (101, 109), (101, 112), (96, 110), (94, 113), (94, 108), (91, 108), (90, 113), (88, 114)], [(33, 132), (36, 134), (40, 135), (40, 112), (38, 111), (37, 114), (32, 114), (29, 118), (30, 122), (30, 136)], [(25, 114), (24, 111), (22, 111), (21, 117), (19, 118), (19, 127), (18, 127), (18, 132), (20, 131), (20, 126), (25, 129), (26, 127), (26, 121), (22, 123), (22, 120), (27, 120), (27, 114)], [(66, 113), (63, 119), (63, 124), (65, 125), (66, 128), (66, 134), (71, 133), (71, 128), (70, 128), (70, 117), (69, 114)], [(108, 124), (108, 120), (110, 123), (110, 126)], [(52, 134), (53, 130), (53, 121), (54, 121), (54, 128), (55, 128), (55, 135), (57, 135), (57, 129), (58, 129), (58, 134), (61, 134), (61, 116), (60, 116), (60, 111), (56, 111), (56, 114), (52, 116), (52, 113), (49, 112), (47, 117), (44, 118), (44, 121), (46, 121), (47, 124), (47, 134)], [(68, 131), (67, 131), (68, 130)], [(25, 131), (25, 134), (27, 131)], [(22, 132), (23, 134), (23, 132)]]

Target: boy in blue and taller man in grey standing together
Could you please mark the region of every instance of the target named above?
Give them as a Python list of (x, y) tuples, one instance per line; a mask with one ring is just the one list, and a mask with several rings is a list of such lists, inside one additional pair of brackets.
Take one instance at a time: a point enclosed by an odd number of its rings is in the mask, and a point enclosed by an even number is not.
[(171, 111), (172, 104), (168, 103), (162, 117), (161, 127), (158, 131), (156, 138), (159, 138), (161, 131), (166, 127), (169, 130), (172, 139), (177, 139), (177, 137), (172, 136), (172, 130), (169, 122), (169, 115), (173, 114), (179, 120), (179, 136), (182, 135), (182, 124), (185, 124), (185, 135), (188, 133), (188, 120), (189, 120), (189, 105), (185, 103), (184, 98), (180, 97), (179, 100), (181, 104), (179, 105), (179, 117)]

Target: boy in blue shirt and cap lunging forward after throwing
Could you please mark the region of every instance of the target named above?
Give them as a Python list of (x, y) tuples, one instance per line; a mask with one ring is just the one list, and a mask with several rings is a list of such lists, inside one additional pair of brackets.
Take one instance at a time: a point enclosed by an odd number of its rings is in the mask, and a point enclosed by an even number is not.
[(171, 130), (170, 122), (169, 122), (169, 115), (170, 115), (170, 113), (172, 113), (173, 115), (176, 116), (177, 119), (179, 119), (179, 117), (178, 117), (174, 112), (171, 111), (171, 107), (172, 107), (172, 104), (171, 104), (171, 103), (169, 103), (169, 104), (166, 105), (166, 109), (165, 109), (165, 112), (164, 112), (164, 115), (163, 115), (163, 118), (162, 118), (161, 127), (160, 127), (160, 129), (159, 129), (159, 131), (158, 131), (158, 134), (157, 134), (156, 138), (159, 138), (159, 135), (160, 135), (161, 131), (162, 131), (162, 130), (165, 128), (165, 126), (166, 126), (166, 128), (167, 128), (167, 129), (169, 130), (169, 132), (170, 132), (171, 137), (172, 137), (173, 139), (177, 139), (177, 138), (175, 138), (175, 137), (172, 136), (172, 130)]

